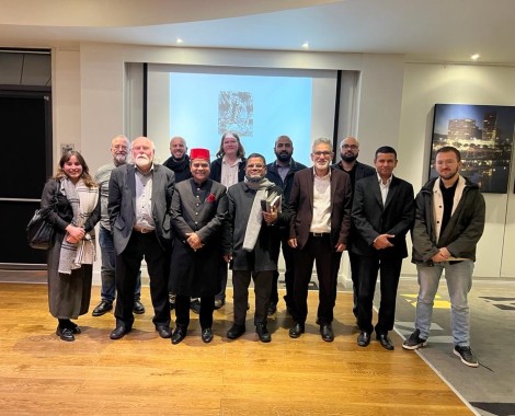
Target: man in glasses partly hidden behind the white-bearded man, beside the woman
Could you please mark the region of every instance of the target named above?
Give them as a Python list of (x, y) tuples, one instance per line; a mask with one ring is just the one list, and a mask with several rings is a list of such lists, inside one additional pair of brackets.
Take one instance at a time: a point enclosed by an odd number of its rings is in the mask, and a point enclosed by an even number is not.
[[(102, 316), (113, 309), (113, 302), (116, 294), (115, 285), (115, 254), (113, 245), (113, 234), (111, 232), (110, 215), (107, 212), (107, 195), (110, 187), (110, 177), (113, 169), (127, 163), (127, 155), (130, 148), (129, 140), (123, 136), (116, 136), (111, 141), (111, 155), (113, 157), (112, 163), (105, 164), (99, 169), (95, 175), (95, 181), (100, 186), (101, 199), (101, 219), (99, 226), (99, 244), (102, 257), (101, 279), (102, 301), (93, 310), (93, 316)], [(134, 291), (134, 313), (145, 313), (145, 307), (140, 301), (141, 297), (141, 274), (138, 275), (136, 288)]]

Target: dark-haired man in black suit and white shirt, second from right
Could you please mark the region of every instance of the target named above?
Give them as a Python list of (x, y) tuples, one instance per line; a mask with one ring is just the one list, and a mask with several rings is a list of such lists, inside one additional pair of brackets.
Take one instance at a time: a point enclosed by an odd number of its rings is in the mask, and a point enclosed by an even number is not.
[(393, 330), (402, 258), (408, 256), (405, 234), (414, 220), (414, 196), (410, 183), (393, 176), (397, 166), (393, 148), (377, 149), (374, 164), (377, 175), (356, 182), (352, 207), (357, 232), (351, 250), (357, 256), (359, 276), (357, 345), (366, 347), (370, 343), (374, 292), (380, 270), (381, 302), (375, 330), (381, 346), (392, 350), (388, 331)]

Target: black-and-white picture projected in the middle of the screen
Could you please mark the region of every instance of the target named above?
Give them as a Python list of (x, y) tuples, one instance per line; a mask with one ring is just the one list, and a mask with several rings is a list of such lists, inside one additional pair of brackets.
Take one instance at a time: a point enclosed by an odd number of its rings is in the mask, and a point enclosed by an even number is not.
[(253, 136), (254, 105), (252, 94), (242, 91), (220, 91), (218, 96), (218, 135), (237, 131), (240, 136)]

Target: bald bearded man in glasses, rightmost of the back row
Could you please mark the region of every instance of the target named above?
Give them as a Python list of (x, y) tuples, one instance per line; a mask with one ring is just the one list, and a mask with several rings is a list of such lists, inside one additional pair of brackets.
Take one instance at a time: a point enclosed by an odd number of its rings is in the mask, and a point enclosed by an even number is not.
[[(352, 194), (354, 197), (354, 188), (356, 181), (363, 177), (371, 176), (376, 173), (376, 170), (368, 164), (360, 163), (357, 161), (359, 154), (359, 141), (353, 136), (347, 136), (340, 145), (340, 155), (342, 160), (339, 163), (334, 163), (332, 167), (340, 169), (343, 172), (348, 173), (351, 176)], [(357, 291), (359, 288), (359, 276), (357, 273), (357, 258), (351, 250), (353, 242), (353, 234), (356, 233), (356, 229), (353, 227), (351, 221), (351, 238), (348, 239), (348, 259), (351, 261), (351, 278), (353, 288), (353, 313), (357, 317)]]

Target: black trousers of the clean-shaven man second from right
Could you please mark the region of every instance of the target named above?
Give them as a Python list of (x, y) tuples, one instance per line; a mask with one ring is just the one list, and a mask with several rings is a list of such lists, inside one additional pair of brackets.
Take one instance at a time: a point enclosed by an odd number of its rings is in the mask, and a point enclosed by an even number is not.
[(393, 330), (396, 319), (396, 299), (399, 277), (401, 274), (402, 257), (373, 257), (357, 255), (357, 274), (359, 288), (357, 299), (357, 326), (360, 331), (371, 333), (374, 325), (373, 302), (376, 291), (377, 274), (380, 273), (381, 301), (379, 317), (376, 324), (377, 334), (387, 334)]

